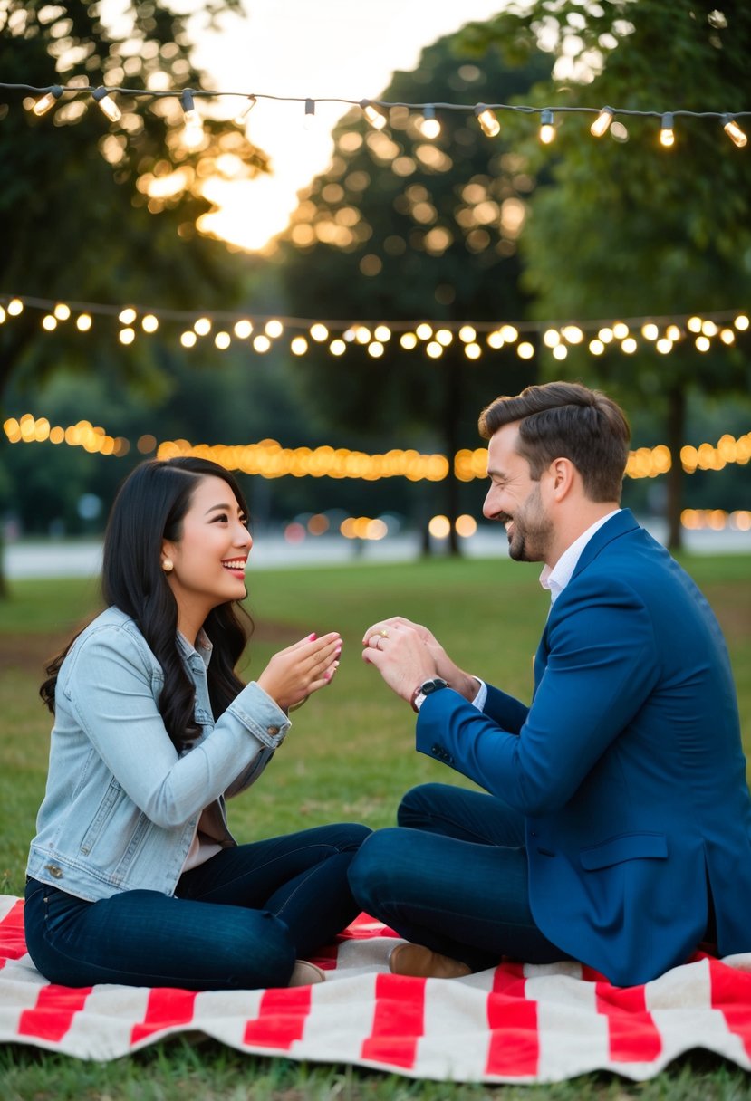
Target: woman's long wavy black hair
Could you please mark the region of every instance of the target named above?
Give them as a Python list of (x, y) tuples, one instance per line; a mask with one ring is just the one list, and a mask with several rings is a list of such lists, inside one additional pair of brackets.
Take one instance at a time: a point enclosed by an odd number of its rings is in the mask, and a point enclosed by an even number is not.
[[(202, 478), (221, 478), (246, 515), (248, 509), (235, 478), (207, 459), (151, 459), (126, 479), (115, 499), (101, 569), (105, 602), (115, 604), (138, 624), (149, 648), (164, 671), (159, 710), (177, 750), (200, 733), (194, 716), (195, 687), (185, 672), (177, 646), (177, 602), (162, 569), (162, 542), (177, 542), (183, 519)], [(204, 623), (211, 641), (208, 689), (215, 719), (243, 687), (235, 672), (252, 631), (252, 620), (233, 601), (214, 608)], [(75, 639), (46, 668), (40, 695), (55, 710), (55, 685), (63, 659)]]

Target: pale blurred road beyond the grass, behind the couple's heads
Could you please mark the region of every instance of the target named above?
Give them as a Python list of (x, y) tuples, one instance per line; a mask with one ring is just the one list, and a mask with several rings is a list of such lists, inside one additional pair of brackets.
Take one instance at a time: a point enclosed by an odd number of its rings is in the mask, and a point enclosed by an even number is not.
[[(664, 527), (649, 523), (647, 527), (662, 539)], [(686, 549), (694, 554), (751, 554), (751, 532), (686, 532)], [(438, 545), (437, 549), (439, 549)], [(505, 535), (499, 527), (482, 527), (464, 541), (464, 549), (472, 558), (505, 558)], [(259, 569), (283, 569), (294, 566), (334, 566), (347, 562), (412, 562), (420, 556), (415, 535), (392, 535), (358, 547), (341, 536), (308, 536), (302, 543), (287, 543), (279, 534), (260, 532), (255, 536), (251, 562)], [(91, 541), (19, 541), (4, 550), (6, 576), (9, 580), (25, 577), (94, 577), (101, 565), (101, 542)]]

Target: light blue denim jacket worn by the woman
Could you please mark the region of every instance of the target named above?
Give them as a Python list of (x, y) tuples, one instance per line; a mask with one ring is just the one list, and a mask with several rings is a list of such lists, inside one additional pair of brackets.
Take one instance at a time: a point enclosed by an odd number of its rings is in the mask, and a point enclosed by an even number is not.
[(70, 647), (26, 868), (33, 879), (92, 902), (135, 889), (171, 895), (202, 811), (202, 833), (224, 848), (236, 843), (225, 797), (260, 776), (290, 721), (251, 682), (215, 723), (210, 643), (199, 636), (194, 650), (177, 637), (202, 727), (182, 754), (156, 706), (162, 667), (132, 619), (109, 608)]

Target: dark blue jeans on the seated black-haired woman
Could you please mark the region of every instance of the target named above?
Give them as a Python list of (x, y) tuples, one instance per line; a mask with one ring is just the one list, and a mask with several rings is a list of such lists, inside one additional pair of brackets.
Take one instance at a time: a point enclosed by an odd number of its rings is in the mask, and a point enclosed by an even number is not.
[(222, 849), (181, 876), (175, 897), (124, 891), (91, 903), (29, 880), (29, 953), (67, 986), (284, 986), (296, 958), (359, 914), (347, 871), (369, 832), (320, 826)]

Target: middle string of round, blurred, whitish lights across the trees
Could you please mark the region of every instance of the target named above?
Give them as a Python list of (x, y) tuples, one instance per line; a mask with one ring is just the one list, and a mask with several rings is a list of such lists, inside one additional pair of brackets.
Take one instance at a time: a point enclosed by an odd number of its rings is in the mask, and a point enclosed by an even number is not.
[[(12, 324), (24, 309), (42, 314), (45, 333), (69, 324), (79, 333), (89, 333), (99, 319), (118, 323), (118, 340), (132, 345), (171, 326), (183, 348), (200, 349), (206, 344), (218, 351), (241, 345), (263, 356), (277, 344), (285, 344), (296, 358), (316, 347), (326, 348), (339, 358), (352, 348), (364, 348), (378, 360), (389, 347), (399, 352), (424, 355), (438, 360), (449, 349), (459, 350), (470, 361), (501, 349), (512, 350), (520, 359), (532, 360), (541, 352), (562, 361), (572, 349), (581, 347), (600, 357), (619, 350), (633, 356), (653, 348), (668, 356), (676, 346), (688, 345), (700, 353), (719, 344), (732, 347), (739, 334), (751, 326), (748, 313), (739, 309), (714, 310), (703, 315), (628, 317), (575, 321), (428, 321), (428, 320), (342, 320), (309, 317), (248, 316), (229, 310), (160, 309), (154, 306), (112, 306), (95, 302), (59, 302), (0, 293), (0, 325)], [(289, 341), (289, 344), (286, 342)]]

